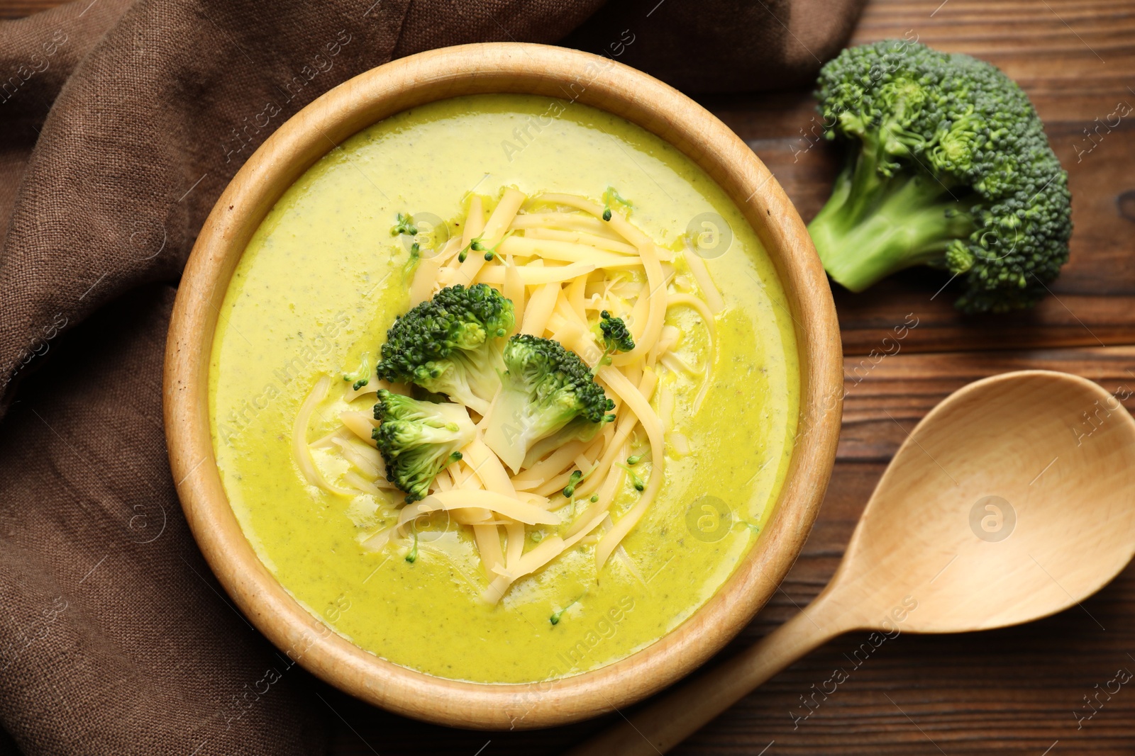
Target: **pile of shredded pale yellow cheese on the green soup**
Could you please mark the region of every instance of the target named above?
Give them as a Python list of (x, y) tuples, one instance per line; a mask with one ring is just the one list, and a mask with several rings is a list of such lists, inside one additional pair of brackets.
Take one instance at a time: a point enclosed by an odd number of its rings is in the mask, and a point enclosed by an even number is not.
[[(704, 262), (695, 260), (689, 247), (678, 253), (689, 275), (683, 272), (675, 279), (682, 270), (675, 253), (659, 247), (622, 214), (612, 213), (609, 220), (603, 220), (599, 204), (555, 193), (538, 195), (529, 203), (553, 205), (555, 210), (529, 212), (522, 210), (528, 207), (527, 199), (520, 190), (506, 189), (486, 218), (482, 198), (471, 196), (460, 238), (449, 239), (436, 256), (419, 263), (410, 283), (411, 305), (454, 283), (484, 282), (496, 288), (513, 303), (514, 332), (556, 339), (591, 366), (595, 380), (614, 405), (614, 422), (587, 441), (571, 441), (556, 449), (532, 447), (512, 475), (479, 431), (461, 450), (461, 459), (435, 477), (422, 501), (403, 506), (394, 525), (362, 540), (367, 549), (380, 550), (393, 540), (407, 537), (418, 518), (445, 512), (453, 523), (472, 529), (488, 580), (481, 597), (490, 604), (501, 601), (513, 583), (579, 544), (596, 544), (597, 571), (615, 555), (637, 575), (622, 541), (663, 485), (664, 444), (670, 442), (675, 455), (690, 452), (686, 436), (670, 433), (673, 391), (659, 387), (655, 365), (661, 363), (700, 381), (697, 407), (714, 364), (714, 316), (724, 307)], [(474, 241), (495, 250), (490, 260), (471, 248)], [(468, 252), (464, 261), (459, 255), (462, 249)], [(709, 349), (704, 371), (695, 369), (673, 351), (682, 334), (666, 324), (666, 316), (669, 308), (679, 306), (691, 307), (705, 322)], [(609, 360), (604, 360), (608, 364), (599, 365), (603, 345), (596, 337), (595, 321), (602, 311), (625, 320), (634, 348), (611, 355)], [(301, 472), (309, 482), (333, 493), (363, 492), (393, 503), (397, 494), (386, 479), (382, 458), (371, 438), (377, 423), (368, 413), (340, 411), (342, 425), (336, 431), (314, 444), (306, 443), (311, 415), (329, 387), (329, 376), (320, 379), (296, 417), (293, 451)], [(350, 402), (371, 397), (380, 388), (409, 393), (406, 387), (371, 379), (359, 390), (345, 390), (343, 400), (350, 407)], [(656, 391), (658, 413), (650, 406)], [(627, 470), (616, 462), (631, 453), (632, 444), (638, 448), (644, 435), (649, 462), (636, 472), (649, 476), (647, 484), (633, 507), (612, 523), (612, 504), (629, 491)], [(311, 456), (314, 447), (339, 453), (351, 465), (343, 474), (351, 490), (338, 489), (323, 478)], [(572, 495), (564, 496), (562, 492), (573, 474), (579, 479), (572, 484)], [(596, 501), (588, 501), (577, 515), (577, 504), (592, 496)], [(568, 503), (572, 504), (572, 516), (565, 519), (563, 508)], [(560, 528), (561, 533), (546, 535), (526, 552), (528, 528), (536, 526)]]

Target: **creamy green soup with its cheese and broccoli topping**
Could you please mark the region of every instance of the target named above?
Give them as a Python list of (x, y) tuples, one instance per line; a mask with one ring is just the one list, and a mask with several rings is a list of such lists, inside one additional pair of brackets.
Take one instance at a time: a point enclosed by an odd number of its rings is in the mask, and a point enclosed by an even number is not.
[(250, 241), (212, 348), (221, 479), (312, 614), (530, 682), (675, 628), (756, 543), (798, 410), (743, 216), (617, 117), (479, 95), (328, 153)]

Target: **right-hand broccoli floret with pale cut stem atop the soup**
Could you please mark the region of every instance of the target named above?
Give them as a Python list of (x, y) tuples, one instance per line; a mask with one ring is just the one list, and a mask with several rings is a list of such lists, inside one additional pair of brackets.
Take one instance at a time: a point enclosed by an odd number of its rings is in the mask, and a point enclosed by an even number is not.
[(614, 407), (587, 364), (558, 341), (520, 333), (504, 347), (501, 394), (485, 443), (515, 473), (543, 439), (591, 438)]

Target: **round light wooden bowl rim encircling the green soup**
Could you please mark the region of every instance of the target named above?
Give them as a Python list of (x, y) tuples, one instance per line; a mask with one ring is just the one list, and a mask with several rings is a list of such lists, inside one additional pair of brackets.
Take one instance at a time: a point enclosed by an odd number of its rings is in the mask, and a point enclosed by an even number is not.
[[(700, 610), (620, 662), (527, 685), (445, 680), (380, 659), (304, 610), (260, 562), (225, 496), (210, 439), (209, 359), (233, 270), (284, 192), (335, 145), (407, 108), (456, 95), (574, 97), (676, 146), (741, 209), (788, 295), (800, 356), (800, 432), (775, 512), (757, 545)], [(843, 372), (827, 280), (796, 209), (767, 168), (705, 109), (607, 58), (489, 43), (403, 58), (344, 82), (269, 137), (218, 199), (177, 292), (165, 371), (166, 438), (185, 517), (244, 614), (327, 682), (400, 714), (453, 727), (537, 728), (627, 706), (664, 688), (730, 640), (776, 589), (808, 535), (835, 457)]]

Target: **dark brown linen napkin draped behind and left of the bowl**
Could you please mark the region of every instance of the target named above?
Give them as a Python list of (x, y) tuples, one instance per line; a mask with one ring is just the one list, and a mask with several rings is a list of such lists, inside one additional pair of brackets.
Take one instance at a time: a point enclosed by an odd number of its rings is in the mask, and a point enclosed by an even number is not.
[[(174, 493), (173, 287), (226, 182), (319, 94), (430, 48), (554, 42), (602, 1), (78, 0), (0, 24), (0, 754), (326, 750), (327, 710), (229, 604)], [(578, 44), (774, 88), (858, 11), (758, 5), (612, 3)]]

